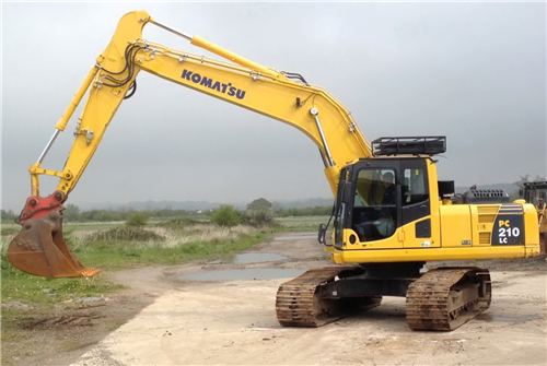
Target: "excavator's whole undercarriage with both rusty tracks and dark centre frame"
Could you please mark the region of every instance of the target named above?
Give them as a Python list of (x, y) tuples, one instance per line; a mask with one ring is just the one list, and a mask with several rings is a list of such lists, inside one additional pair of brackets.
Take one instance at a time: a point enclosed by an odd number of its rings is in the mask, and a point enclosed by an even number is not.
[(490, 306), (491, 281), (479, 268), (438, 268), (424, 262), (369, 263), (311, 270), (279, 286), (276, 311), (284, 327), (321, 327), (406, 297), (412, 330), (451, 331)]

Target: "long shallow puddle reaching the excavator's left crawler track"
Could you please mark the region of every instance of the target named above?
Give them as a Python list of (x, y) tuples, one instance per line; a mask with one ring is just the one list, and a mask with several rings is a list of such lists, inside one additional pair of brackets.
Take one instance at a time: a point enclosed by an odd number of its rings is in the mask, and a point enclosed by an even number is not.
[(298, 278), (304, 270), (257, 268), (245, 270), (222, 270), (179, 275), (178, 280), (190, 281), (246, 281)]

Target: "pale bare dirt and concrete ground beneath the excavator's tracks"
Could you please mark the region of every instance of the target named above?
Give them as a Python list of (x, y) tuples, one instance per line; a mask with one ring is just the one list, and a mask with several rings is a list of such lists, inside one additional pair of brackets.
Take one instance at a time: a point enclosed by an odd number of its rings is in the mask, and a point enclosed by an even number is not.
[[(322, 328), (280, 327), (277, 287), (296, 270), (331, 264), (314, 237), (279, 235), (247, 251), (287, 257), (278, 261), (222, 258), (109, 273), (128, 288), (66, 304), (54, 318), (31, 317), (32, 337), (45, 346), (18, 365), (546, 365), (545, 261), (458, 262), (489, 268), (493, 296), (485, 314), (453, 332), (410, 331), (405, 299), (395, 297)], [(261, 280), (265, 269), (287, 278)], [(230, 279), (237, 270), (253, 271), (244, 280), (182, 278), (228, 271)]]

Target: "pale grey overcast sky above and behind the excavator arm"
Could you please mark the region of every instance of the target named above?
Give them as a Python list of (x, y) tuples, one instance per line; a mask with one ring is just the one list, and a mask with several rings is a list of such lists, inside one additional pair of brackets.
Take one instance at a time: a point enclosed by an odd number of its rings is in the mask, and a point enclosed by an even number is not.
[[(139, 9), (303, 74), (340, 101), (369, 140), (446, 135), (440, 179), (472, 186), (546, 176), (543, 2), (3, 2), (3, 209), (22, 209), (28, 166), (120, 16)], [(153, 25), (144, 37), (209, 56)], [(144, 72), (138, 81), (70, 203), (330, 197), (317, 147), (296, 129)], [(44, 168), (62, 168), (78, 116)], [(42, 180), (42, 196), (50, 194), (57, 179)]]

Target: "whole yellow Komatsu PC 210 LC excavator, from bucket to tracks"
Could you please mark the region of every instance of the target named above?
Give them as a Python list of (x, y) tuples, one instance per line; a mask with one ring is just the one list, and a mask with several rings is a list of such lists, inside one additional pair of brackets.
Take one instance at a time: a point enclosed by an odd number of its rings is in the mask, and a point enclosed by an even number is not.
[[(176, 34), (224, 60), (146, 40), (146, 25)], [(16, 220), (22, 229), (8, 248), (8, 258), (18, 269), (46, 278), (98, 273), (84, 267), (65, 241), (63, 203), (119, 105), (135, 93), (140, 71), (288, 123), (317, 145), (335, 197), (318, 240), (338, 265), (307, 271), (279, 286), (276, 312), (282, 326), (319, 327), (376, 307), (382, 296), (399, 296), (406, 297), (410, 329), (451, 331), (489, 307), (489, 271), (477, 267), (428, 270), (427, 262), (538, 256), (538, 222), (532, 204), (503, 201), (497, 191), (474, 190), (455, 199), (454, 181), (438, 180), (435, 156), (446, 151), (445, 137), (369, 142), (349, 110), (301, 74), (261, 66), (170, 27), (146, 11), (135, 11), (120, 19), (30, 167), (32, 196)], [(43, 168), (84, 95), (62, 170)], [(47, 197), (39, 192), (42, 175), (59, 179)]]

